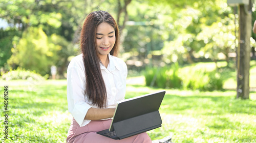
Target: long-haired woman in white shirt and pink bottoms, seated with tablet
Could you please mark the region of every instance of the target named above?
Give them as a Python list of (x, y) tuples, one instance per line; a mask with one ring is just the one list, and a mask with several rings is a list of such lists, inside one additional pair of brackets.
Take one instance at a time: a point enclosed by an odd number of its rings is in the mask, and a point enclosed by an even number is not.
[(80, 36), (82, 54), (68, 66), (67, 98), (73, 120), (67, 142), (152, 142), (145, 132), (121, 140), (96, 134), (110, 127), (116, 102), (125, 95), (127, 67), (116, 57), (118, 42), (118, 26), (108, 12), (87, 16)]

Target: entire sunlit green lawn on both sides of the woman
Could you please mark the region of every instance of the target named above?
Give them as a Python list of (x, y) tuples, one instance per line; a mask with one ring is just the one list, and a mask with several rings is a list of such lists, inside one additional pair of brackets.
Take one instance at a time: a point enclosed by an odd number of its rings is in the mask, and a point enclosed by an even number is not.
[[(128, 83), (126, 98), (162, 90), (144, 87), (140, 82)], [(1, 81), (2, 95), (4, 85), (9, 85), (9, 139), (5, 142), (66, 141), (72, 117), (65, 80)], [(172, 134), (174, 142), (256, 142), (256, 93), (250, 93), (250, 100), (234, 97), (235, 91), (168, 89), (160, 107), (162, 127), (147, 133), (153, 140)], [(3, 98), (1, 102), (3, 113)], [(4, 118), (1, 122), (4, 132)]]

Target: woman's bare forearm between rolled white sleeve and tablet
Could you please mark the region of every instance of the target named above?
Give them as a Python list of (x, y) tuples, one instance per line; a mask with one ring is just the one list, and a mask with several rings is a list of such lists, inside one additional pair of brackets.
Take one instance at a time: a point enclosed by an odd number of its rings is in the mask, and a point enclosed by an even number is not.
[(101, 120), (112, 118), (114, 116), (116, 108), (90, 108), (87, 111), (86, 120)]

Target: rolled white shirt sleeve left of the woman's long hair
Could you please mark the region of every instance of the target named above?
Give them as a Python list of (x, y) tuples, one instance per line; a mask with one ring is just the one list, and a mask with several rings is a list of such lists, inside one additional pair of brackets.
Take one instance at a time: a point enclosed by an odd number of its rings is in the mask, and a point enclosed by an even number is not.
[(92, 107), (84, 99), (85, 75), (83, 65), (71, 61), (67, 70), (67, 99), (69, 112), (80, 127), (87, 125), (91, 120), (84, 120), (88, 110)]

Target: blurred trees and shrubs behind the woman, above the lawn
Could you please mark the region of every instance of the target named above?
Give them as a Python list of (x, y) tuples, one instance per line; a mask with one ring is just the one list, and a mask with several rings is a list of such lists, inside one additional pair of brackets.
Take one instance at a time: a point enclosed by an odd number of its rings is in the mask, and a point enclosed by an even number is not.
[[(144, 75), (147, 85), (160, 88), (236, 88), (239, 10), (228, 6), (227, 0), (0, 3), (0, 76), (4, 80), (65, 79), (70, 60), (80, 54), (84, 19), (92, 11), (103, 10), (118, 22), (118, 56), (126, 62), (129, 77)], [(252, 21), (248, 21), (252, 25), (254, 10), (253, 3)], [(252, 33), (252, 73), (256, 71), (255, 39)], [(250, 75), (252, 89), (255, 76)]]

